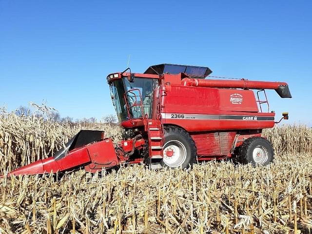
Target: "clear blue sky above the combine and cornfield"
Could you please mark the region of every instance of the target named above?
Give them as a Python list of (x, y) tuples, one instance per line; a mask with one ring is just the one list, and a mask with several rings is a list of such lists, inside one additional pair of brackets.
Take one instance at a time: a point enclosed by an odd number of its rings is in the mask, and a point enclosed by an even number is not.
[(0, 105), (29, 101), (62, 117), (115, 113), (107, 74), (152, 64), (286, 81), (277, 116), (312, 125), (312, 1), (0, 0)]

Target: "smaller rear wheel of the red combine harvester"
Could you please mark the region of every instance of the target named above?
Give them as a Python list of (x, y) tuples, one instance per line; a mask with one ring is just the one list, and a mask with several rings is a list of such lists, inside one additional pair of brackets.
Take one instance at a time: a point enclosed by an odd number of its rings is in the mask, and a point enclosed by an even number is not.
[(243, 164), (268, 165), (273, 161), (274, 150), (267, 139), (250, 137), (244, 141), (239, 150), (239, 161)]

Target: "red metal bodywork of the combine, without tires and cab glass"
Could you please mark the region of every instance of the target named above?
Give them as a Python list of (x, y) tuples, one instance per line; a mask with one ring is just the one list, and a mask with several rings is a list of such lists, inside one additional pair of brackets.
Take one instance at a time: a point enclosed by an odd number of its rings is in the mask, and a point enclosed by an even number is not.
[[(149, 96), (144, 97), (142, 87), (132, 87), (130, 84), (128, 85), (131, 87), (130, 90), (121, 92), (123, 100), (119, 99), (118, 102), (124, 104), (120, 104), (118, 108), (119, 111), (124, 108), (127, 115), (127, 118), (121, 121), (121, 125), (133, 129), (135, 137), (123, 140), (117, 146), (114, 146), (110, 139), (100, 139), (95, 143), (73, 149), (58, 160), (54, 160), (53, 157), (39, 160), (10, 174), (55, 173), (81, 165), (85, 166), (86, 171), (96, 172), (119, 163), (139, 163), (144, 157), (161, 158), (165, 140), (163, 128), (166, 126), (176, 126), (190, 134), (197, 148), (198, 160), (231, 157), (234, 149), (244, 140), (249, 137), (260, 137), (262, 129), (274, 126), (275, 113), (269, 112), (265, 92), (266, 100), (259, 99), (259, 92), (274, 89), (280, 97), (291, 98), (285, 82), (204, 79), (211, 73), (210, 69), (206, 70), (204, 77), (201, 78), (193, 78), (183, 72), (177, 74), (163, 72), (155, 75), (154, 71), (157, 71), (154, 68), (151, 66), (147, 70), (152, 71), (151, 74), (122, 72), (107, 77), (111, 86), (123, 79), (130, 82), (135, 82), (136, 79), (157, 81), (154, 90), (149, 92), (153, 94), (152, 104), (149, 106), (150, 116), (144, 113), (146, 108), (144, 98)], [(201, 71), (200, 67), (192, 69), (197, 73)], [(124, 88), (125, 82), (123, 81)], [(258, 90), (257, 99), (253, 89)], [(131, 104), (127, 101), (129, 94), (134, 99)], [(263, 103), (268, 105), (268, 112), (263, 112), (261, 107)], [(138, 108), (141, 116), (131, 116), (132, 108)], [(168, 151), (167, 156), (170, 153), (172, 152)]]

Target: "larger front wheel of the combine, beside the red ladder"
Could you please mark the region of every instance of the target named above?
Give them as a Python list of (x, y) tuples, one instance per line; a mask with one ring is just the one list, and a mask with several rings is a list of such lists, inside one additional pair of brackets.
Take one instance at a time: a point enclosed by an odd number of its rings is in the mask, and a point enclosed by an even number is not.
[[(163, 167), (189, 168), (197, 159), (197, 149), (193, 138), (183, 129), (166, 126), (164, 127), (165, 141), (163, 144)], [(173, 154), (172, 156), (167, 156)]]

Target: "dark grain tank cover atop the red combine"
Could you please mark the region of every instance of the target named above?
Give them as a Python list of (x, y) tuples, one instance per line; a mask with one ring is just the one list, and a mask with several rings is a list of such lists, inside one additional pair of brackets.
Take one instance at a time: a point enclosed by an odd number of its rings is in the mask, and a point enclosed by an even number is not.
[(208, 67), (163, 63), (150, 66), (144, 73), (155, 75), (184, 73), (189, 77), (205, 78), (212, 73), (212, 70), (210, 70)]

